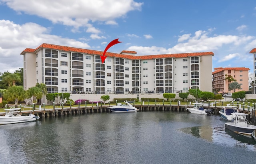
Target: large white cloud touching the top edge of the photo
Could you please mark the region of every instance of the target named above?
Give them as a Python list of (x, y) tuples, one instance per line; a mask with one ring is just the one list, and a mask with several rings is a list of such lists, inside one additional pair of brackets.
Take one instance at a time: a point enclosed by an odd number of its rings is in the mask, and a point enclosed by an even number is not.
[(17, 13), (46, 18), (55, 23), (74, 26), (73, 31), (88, 22), (116, 24), (114, 19), (124, 17), (132, 10), (141, 10), (143, 3), (134, 0), (4, 0)]

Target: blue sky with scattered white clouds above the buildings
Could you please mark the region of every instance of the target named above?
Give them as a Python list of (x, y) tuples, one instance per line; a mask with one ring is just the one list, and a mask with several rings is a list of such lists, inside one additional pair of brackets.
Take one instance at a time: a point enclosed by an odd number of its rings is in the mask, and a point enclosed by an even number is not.
[(42, 43), (136, 55), (214, 53), (217, 67), (253, 72), (255, 0), (0, 0), (0, 72)]

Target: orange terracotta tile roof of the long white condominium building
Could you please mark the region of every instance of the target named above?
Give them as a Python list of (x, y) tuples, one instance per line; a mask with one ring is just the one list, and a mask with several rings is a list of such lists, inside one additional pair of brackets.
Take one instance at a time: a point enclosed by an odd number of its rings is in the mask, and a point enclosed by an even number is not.
[[(80, 52), (85, 54), (93, 54), (93, 55), (102, 55), (103, 51), (96, 51), (96, 50), (88, 50), (88, 49), (82, 49), (82, 48), (74, 48), (74, 47), (68, 47), (68, 46), (59, 46), (54, 44), (47, 44), (43, 43), (40, 46), (38, 46), (35, 49), (26, 48), (24, 51), (22, 51), (20, 54), (24, 55), (26, 52), (37, 52), (41, 48), (50, 48), (55, 50), (62, 50), (66, 52)], [(135, 51), (122, 51), (122, 52), (135, 52)], [(121, 53), (122, 53), (121, 52)], [(127, 58), (131, 60), (150, 60), (154, 58), (187, 58), (190, 56), (204, 56), (204, 55), (212, 55), (214, 56), (213, 52), (192, 52), (192, 53), (182, 53), (182, 54), (158, 54), (158, 55), (145, 55), (145, 56), (132, 56), (132, 55), (126, 55), (126, 54), (116, 54), (112, 52), (106, 52), (106, 56), (110, 57), (118, 57), (118, 58)], [(137, 53), (137, 52), (136, 52)]]

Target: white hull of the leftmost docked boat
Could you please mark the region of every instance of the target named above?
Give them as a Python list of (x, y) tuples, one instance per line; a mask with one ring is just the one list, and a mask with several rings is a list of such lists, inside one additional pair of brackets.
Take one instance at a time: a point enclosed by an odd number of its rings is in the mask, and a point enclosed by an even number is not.
[(22, 123), (22, 122), (31, 122), (35, 120), (36, 118), (33, 118), (31, 116), (12, 116), (12, 117), (0, 116), (0, 124), (15, 124), (15, 123)]

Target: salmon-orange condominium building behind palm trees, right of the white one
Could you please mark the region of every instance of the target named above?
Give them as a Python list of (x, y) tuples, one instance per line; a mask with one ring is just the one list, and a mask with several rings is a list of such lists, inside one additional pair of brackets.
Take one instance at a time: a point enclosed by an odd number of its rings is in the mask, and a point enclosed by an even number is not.
[[(214, 68), (214, 72), (212, 72), (213, 80), (212, 80), (212, 88), (214, 92), (233, 92), (233, 90), (229, 90), (228, 86), (233, 81), (224, 80), (226, 77), (232, 76), (238, 84), (240, 84), (241, 89), (239, 91), (244, 90), (247, 91), (249, 89), (248, 78), (249, 68), (244, 67), (234, 67), (234, 68)], [(238, 89), (236, 90), (238, 91)]]

